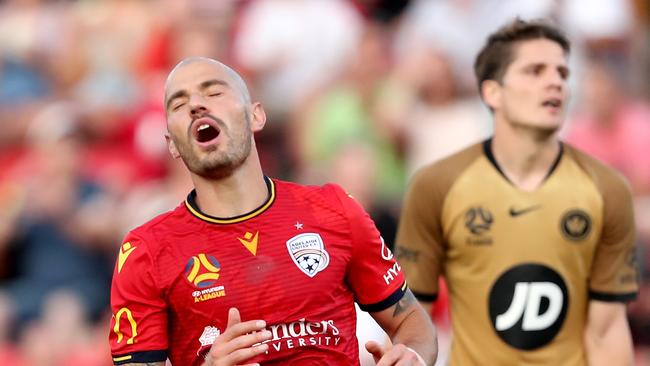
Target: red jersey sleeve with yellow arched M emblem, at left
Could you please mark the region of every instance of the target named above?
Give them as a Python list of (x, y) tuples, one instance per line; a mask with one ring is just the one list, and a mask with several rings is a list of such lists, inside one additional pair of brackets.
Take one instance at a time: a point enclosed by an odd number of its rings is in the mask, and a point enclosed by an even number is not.
[(118, 253), (109, 333), (115, 365), (167, 359), (167, 307), (147, 249), (143, 239), (129, 234)]

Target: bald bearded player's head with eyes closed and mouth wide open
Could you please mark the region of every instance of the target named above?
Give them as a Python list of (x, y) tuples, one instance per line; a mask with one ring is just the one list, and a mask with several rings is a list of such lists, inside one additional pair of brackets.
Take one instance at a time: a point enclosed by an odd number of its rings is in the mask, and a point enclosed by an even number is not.
[(202, 177), (230, 175), (251, 153), (252, 106), (223, 66), (197, 60), (177, 67), (165, 92), (169, 150)]

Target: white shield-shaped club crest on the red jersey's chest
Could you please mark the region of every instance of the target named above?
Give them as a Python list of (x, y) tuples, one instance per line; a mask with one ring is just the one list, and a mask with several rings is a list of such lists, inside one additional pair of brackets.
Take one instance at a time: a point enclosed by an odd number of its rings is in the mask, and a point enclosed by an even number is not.
[(300, 234), (289, 239), (287, 250), (296, 266), (309, 277), (316, 276), (330, 263), (323, 238), (315, 233)]

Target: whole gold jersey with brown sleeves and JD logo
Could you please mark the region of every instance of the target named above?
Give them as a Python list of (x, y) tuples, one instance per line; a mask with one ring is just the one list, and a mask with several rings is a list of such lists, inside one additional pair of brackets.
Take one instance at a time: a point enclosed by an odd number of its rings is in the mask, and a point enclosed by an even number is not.
[(491, 140), (419, 171), (396, 255), (434, 300), (444, 276), (451, 365), (585, 365), (589, 299), (636, 296), (634, 219), (621, 176), (563, 144), (534, 192), (516, 188)]

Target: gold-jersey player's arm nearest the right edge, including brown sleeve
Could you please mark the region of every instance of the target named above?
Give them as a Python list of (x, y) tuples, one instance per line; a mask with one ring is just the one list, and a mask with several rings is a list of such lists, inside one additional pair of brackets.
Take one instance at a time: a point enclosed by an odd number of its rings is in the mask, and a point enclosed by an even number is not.
[(633, 365), (625, 306), (638, 292), (632, 192), (620, 176), (600, 174), (603, 228), (589, 276), (585, 351), (590, 366)]

